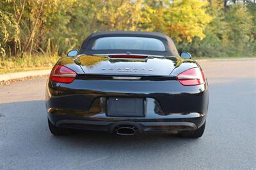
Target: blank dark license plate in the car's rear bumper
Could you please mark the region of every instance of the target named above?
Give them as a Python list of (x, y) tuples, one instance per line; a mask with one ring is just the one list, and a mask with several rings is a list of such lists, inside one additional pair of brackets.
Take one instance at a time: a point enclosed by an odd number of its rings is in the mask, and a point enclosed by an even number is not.
[(109, 97), (107, 115), (118, 117), (144, 116), (144, 98)]

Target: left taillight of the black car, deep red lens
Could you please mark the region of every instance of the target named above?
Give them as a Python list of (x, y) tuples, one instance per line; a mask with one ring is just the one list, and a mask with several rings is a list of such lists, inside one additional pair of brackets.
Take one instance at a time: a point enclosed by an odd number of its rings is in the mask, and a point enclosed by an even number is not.
[(52, 68), (50, 80), (53, 82), (70, 83), (76, 79), (77, 73), (62, 65), (56, 65)]

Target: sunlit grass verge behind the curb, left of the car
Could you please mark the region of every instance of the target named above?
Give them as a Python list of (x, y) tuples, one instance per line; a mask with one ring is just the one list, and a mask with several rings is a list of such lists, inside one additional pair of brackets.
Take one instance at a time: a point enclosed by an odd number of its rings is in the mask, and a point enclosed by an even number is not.
[(24, 55), (22, 58), (2, 59), (0, 61), (0, 74), (50, 69), (59, 58), (60, 56), (56, 55)]

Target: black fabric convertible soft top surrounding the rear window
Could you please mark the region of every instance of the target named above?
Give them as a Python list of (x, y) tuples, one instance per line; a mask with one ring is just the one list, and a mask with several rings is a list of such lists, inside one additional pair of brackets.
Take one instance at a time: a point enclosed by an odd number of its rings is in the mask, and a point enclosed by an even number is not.
[(163, 42), (165, 51), (154, 51), (154, 50), (129, 50), (132, 54), (148, 54), (148, 55), (159, 55), (159, 56), (179, 56), (179, 53), (173, 43), (173, 40), (162, 33), (157, 32), (146, 32), (146, 31), (100, 31), (93, 33), (88, 36), (79, 51), (79, 54), (126, 54), (127, 50), (92, 50), (92, 45), (95, 40), (102, 37), (109, 36), (135, 36), (135, 37), (147, 37), (156, 38)]

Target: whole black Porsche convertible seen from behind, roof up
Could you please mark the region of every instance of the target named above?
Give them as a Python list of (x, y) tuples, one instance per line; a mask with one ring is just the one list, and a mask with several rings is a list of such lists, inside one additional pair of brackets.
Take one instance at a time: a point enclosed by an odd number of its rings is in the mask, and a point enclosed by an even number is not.
[(201, 137), (209, 102), (202, 69), (166, 35), (102, 31), (52, 68), (47, 81), (49, 129), (120, 135), (174, 131)]

